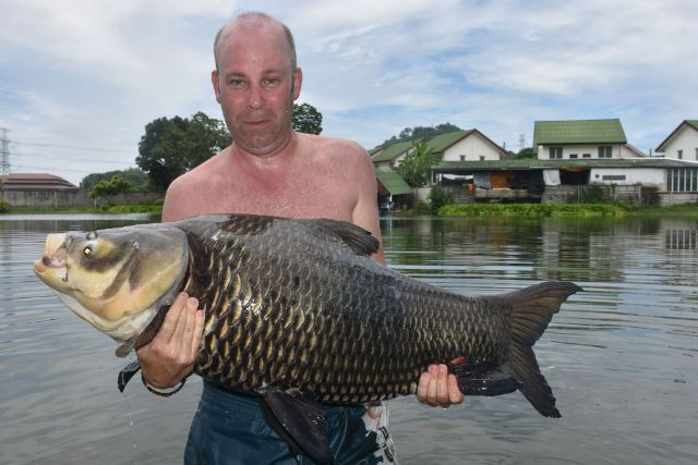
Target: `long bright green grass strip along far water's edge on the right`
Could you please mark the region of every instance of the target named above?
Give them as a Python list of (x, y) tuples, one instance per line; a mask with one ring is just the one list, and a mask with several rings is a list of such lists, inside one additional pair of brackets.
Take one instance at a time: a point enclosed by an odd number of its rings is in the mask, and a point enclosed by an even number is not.
[(441, 217), (623, 217), (627, 210), (610, 204), (466, 204), (445, 205)]

